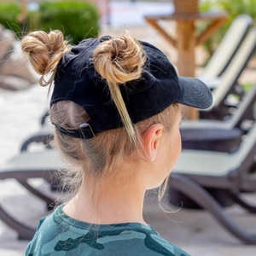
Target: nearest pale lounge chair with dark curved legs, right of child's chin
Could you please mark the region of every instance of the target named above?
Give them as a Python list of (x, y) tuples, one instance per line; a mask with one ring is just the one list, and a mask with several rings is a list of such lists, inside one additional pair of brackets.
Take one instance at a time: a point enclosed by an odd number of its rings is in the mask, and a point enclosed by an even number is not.
[(206, 189), (224, 189), (241, 207), (256, 213), (256, 207), (240, 197), (240, 191), (256, 192), (256, 174), (250, 172), (255, 154), (256, 123), (234, 154), (183, 150), (169, 179), (170, 186), (211, 212), (225, 229), (241, 241), (256, 244), (256, 233), (250, 234), (238, 226)]

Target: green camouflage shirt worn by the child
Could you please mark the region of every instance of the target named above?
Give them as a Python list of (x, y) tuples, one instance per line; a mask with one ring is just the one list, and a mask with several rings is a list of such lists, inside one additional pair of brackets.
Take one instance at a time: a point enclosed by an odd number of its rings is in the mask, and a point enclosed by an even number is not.
[(189, 256), (139, 223), (88, 224), (58, 207), (40, 220), (26, 256)]

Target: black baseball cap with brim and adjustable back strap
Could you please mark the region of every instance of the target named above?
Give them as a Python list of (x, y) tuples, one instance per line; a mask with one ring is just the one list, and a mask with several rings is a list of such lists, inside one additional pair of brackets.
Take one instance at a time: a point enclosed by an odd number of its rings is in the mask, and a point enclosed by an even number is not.
[[(122, 119), (111, 100), (106, 79), (96, 72), (93, 53), (111, 37), (83, 40), (65, 54), (57, 67), (50, 106), (69, 100), (79, 104), (90, 116), (90, 124), (77, 130), (58, 130), (71, 136), (90, 139), (97, 133), (123, 127)], [(158, 114), (177, 102), (195, 108), (209, 108), (212, 93), (199, 79), (178, 77), (166, 55), (152, 44), (138, 41), (147, 59), (140, 79), (119, 84), (133, 124)]]

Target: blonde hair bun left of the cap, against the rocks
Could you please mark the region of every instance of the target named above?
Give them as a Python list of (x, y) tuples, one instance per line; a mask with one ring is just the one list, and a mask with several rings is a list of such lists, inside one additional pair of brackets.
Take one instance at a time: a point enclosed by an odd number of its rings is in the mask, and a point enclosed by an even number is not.
[[(61, 57), (70, 51), (71, 47), (64, 40), (62, 32), (54, 30), (49, 33), (28, 33), (21, 40), (21, 49), (28, 55), (35, 71), (42, 75), (39, 84), (46, 86), (52, 84)], [(49, 73), (49, 79), (45, 79), (44, 76)]]

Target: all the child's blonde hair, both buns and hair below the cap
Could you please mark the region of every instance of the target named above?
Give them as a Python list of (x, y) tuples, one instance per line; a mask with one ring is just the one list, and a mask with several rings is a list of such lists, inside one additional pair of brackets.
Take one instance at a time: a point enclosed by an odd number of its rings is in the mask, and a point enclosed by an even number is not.
[[(59, 31), (49, 34), (31, 32), (22, 39), (21, 47), (29, 55), (32, 66), (42, 75), (42, 86), (52, 83), (57, 64), (70, 50)], [(113, 170), (119, 170), (125, 157), (136, 152), (137, 144), (142, 142), (143, 131), (156, 123), (162, 124), (169, 131), (177, 113), (177, 104), (172, 104), (162, 113), (135, 125), (131, 123), (119, 86), (125, 86), (125, 82), (141, 77), (146, 55), (141, 45), (130, 35), (103, 41), (96, 47), (93, 58), (96, 71), (108, 82), (113, 102), (125, 127), (104, 131), (90, 140), (68, 137), (55, 129), (55, 143), (73, 166), (65, 176), (70, 177), (68, 183), (73, 183), (71, 187), (77, 189), (87, 176), (97, 177), (97, 184), (103, 177), (114, 177)], [(47, 73), (52, 73), (49, 80), (44, 79)], [(55, 102), (50, 109), (50, 119), (67, 130), (78, 129), (79, 125), (90, 123), (90, 117), (84, 108), (71, 101)]]

